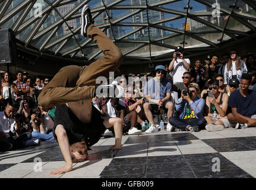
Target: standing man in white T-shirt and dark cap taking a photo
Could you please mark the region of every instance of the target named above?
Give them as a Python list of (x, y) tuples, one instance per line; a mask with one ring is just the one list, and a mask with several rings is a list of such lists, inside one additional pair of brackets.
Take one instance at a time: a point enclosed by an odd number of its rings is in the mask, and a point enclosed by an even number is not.
[(187, 72), (190, 66), (190, 60), (184, 59), (184, 49), (181, 46), (176, 47), (173, 53), (172, 62), (170, 62), (169, 70), (173, 71), (173, 84), (182, 83), (182, 76)]

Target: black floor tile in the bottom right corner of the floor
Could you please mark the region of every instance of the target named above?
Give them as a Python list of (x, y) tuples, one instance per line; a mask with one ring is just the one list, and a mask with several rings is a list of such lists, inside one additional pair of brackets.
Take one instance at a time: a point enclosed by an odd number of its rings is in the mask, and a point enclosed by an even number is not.
[(252, 178), (251, 175), (242, 169), (236, 170), (220, 170), (220, 172), (213, 172), (211, 170), (194, 170), (197, 178)]

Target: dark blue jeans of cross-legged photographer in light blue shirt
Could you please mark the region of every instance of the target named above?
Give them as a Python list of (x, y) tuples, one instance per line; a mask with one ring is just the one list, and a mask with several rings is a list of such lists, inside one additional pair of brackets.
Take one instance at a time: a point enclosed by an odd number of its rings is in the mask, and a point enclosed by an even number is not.
[(200, 129), (204, 128), (204, 126), (206, 125), (206, 119), (204, 118), (193, 118), (193, 119), (180, 119), (180, 118), (174, 118), (174, 117), (170, 117), (169, 118), (169, 123), (172, 126), (175, 126), (176, 128), (179, 129), (188, 129), (187, 126), (199, 126)]

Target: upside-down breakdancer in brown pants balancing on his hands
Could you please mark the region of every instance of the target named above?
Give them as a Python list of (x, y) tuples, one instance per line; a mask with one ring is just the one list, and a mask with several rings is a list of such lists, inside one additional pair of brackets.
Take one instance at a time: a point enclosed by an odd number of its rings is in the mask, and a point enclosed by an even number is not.
[[(56, 106), (53, 135), (59, 143), (66, 165), (50, 174), (61, 174), (72, 170), (72, 163), (87, 159), (87, 150), (99, 141), (102, 132), (113, 126), (115, 145), (109, 150), (120, 150), (122, 119), (102, 118), (102, 114), (91, 104), (96, 96), (96, 78), (108, 78), (122, 63), (122, 53), (115, 44), (93, 25), (90, 7), (81, 12), (81, 35), (97, 43), (104, 56), (89, 66), (69, 65), (60, 71), (41, 91), (38, 104), (44, 110)], [(109, 86), (108, 86), (109, 88)]]

